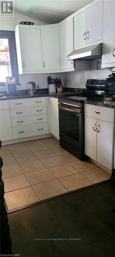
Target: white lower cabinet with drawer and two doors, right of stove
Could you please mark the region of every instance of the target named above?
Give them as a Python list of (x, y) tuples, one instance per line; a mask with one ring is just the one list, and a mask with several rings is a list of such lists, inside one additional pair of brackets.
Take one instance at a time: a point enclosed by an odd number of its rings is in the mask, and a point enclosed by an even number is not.
[(112, 169), (114, 109), (85, 104), (85, 154)]

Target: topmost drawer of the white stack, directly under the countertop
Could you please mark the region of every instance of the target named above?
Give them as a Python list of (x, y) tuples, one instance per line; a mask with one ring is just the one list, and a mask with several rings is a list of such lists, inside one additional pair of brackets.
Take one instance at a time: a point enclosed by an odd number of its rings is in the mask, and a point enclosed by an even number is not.
[(31, 107), (31, 106), (41, 106), (47, 105), (46, 97), (34, 97), (27, 99), (13, 99), (10, 100), (10, 108), (21, 108), (21, 107)]

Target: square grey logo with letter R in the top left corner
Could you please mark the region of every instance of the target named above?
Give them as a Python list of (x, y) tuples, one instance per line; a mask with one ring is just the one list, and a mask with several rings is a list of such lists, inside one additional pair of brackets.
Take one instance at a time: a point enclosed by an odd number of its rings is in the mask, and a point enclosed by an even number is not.
[(1, 16), (14, 16), (14, 1), (1, 1)]

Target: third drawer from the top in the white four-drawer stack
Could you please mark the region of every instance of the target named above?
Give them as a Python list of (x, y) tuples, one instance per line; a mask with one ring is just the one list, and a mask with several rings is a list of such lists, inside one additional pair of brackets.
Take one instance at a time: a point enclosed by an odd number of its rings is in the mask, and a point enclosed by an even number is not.
[(12, 127), (48, 122), (47, 114), (12, 118)]

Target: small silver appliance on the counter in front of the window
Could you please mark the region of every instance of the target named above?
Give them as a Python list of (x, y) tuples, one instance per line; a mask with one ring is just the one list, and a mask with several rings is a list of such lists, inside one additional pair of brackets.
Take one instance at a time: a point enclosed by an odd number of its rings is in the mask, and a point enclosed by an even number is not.
[(6, 91), (8, 95), (17, 95), (16, 79), (14, 77), (6, 77)]

